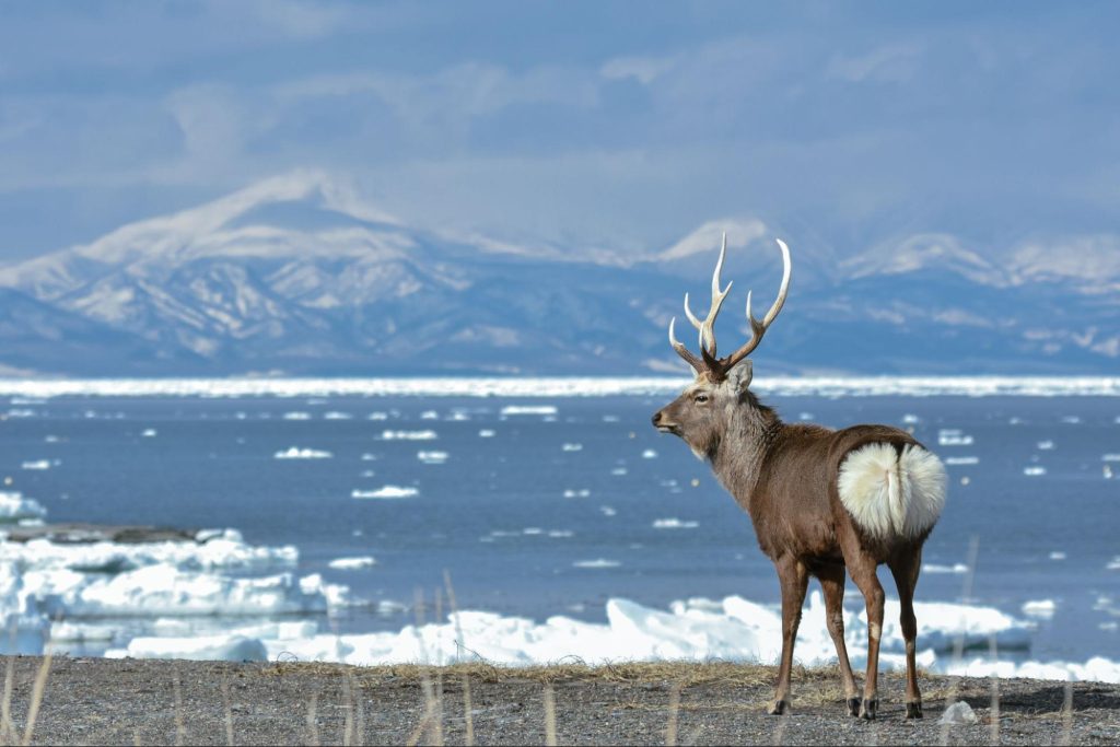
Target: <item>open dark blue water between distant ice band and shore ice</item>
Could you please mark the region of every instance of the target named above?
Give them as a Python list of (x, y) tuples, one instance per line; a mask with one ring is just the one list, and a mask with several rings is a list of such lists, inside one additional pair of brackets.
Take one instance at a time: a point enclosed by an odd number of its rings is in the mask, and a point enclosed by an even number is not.
[[(748, 517), (707, 465), (674, 437), (651, 428), (650, 415), (664, 402), (644, 396), (16, 401), (0, 421), (0, 476), (10, 480), (7, 489), (43, 503), (55, 522), (232, 526), (252, 543), (295, 544), (300, 573), (321, 572), (373, 600), (408, 604), (418, 589), (430, 597), (447, 570), (460, 607), (536, 619), (554, 614), (603, 619), (604, 603), (616, 596), (654, 607), (732, 594), (776, 604), (777, 580)], [(884, 396), (769, 403), (788, 421), (913, 427), (943, 458), (977, 457), (978, 464), (949, 467), (949, 503), (926, 544), (925, 563), (967, 562), (976, 538), (970, 601), (1020, 618), (1028, 600), (1057, 604), (1053, 619), (1039, 623), (1032, 657), (1120, 656), (1114, 625), (1120, 570), (1108, 569), (1120, 555), (1120, 463), (1103, 459), (1120, 454), (1120, 401)], [(556, 414), (500, 414), (517, 404), (553, 405)], [(284, 419), (290, 412), (309, 418)], [(353, 418), (328, 419), (328, 412)], [(385, 419), (370, 420), (374, 412)], [(144, 437), (146, 429), (157, 435)], [(479, 437), (486, 429), (492, 438)], [(939, 446), (943, 429), (959, 429), (972, 443)], [(384, 440), (384, 430), (432, 430), (438, 437)], [(1053, 447), (1039, 448), (1046, 441)], [(293, 446), (334, 456), (273, 458)], [(448, 458), (423, 464), (418, 451), (445, 451)], [(41, 459), (58, 464), (21, 468)], [(1109, 465), (1116, 478), (1105, 476)], [(1024, 474), (1033, 466), (1045, 474)], [(385, 485), (416, 487), (419, 495), (351, 497), (355, 489)], [(654, 526), (666, 519), (696, 526)], [(358, 571), (327, 566), (366, 554), (377, 564)], [(617, 566), (577, 566), (596, 560)], [(926, 572), (918, 598), (959, 600), (964, 580), (962, 573)], [(892, 595), (886, 573), (884, 585)], [(848, 604), (858, 605), (851, 585)], [(379, 616), (355, 608), (335, 624), (375, 631), (411, 619), (408, 613)]]

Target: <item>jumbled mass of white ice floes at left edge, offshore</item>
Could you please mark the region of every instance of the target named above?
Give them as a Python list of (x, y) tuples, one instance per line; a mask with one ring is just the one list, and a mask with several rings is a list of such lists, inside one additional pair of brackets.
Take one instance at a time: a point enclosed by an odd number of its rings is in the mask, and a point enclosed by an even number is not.
[[(0, 506), (9, 517), (41, 520), (45, 514), (18, 494), (0, 494)], [(260, 575), (293, 567), (297, 559), (293, 547), (248, 545), (234, 530), (205, 530), (194, 541), (0, 541), (0, 623), (4, 631), (15, 629), (15, 651), (43, 653), (48, 637), (73, 642), (114, 635), (110, 626), (75, 618), (320, 614), (332, 600), (344, 599), (344, 587), (324, 583), (319, 576)], [(230, 571), (255, 576), (234, 578)], [(62, 618), (68, 623), (48, 635), (49, 620)], [(0, 651), (11, 651), (9, 639), (0, 636)]]

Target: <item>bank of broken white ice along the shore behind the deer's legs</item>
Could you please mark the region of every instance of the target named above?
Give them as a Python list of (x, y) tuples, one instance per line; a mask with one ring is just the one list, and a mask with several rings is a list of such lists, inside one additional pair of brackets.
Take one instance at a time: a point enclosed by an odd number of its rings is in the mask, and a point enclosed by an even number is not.
[[(939, 669), (945, 650), (952, 646), (961, 631), (965, 632), (967, 641), (982, 639), (984, 646), (993, 635), (1004, 651), (1021, 644), (1019, 632), (1026, 629), (1025, 624), (986, 607), (925, 604), (918, 606), (917, 614), (920, 624), (924, 620), (918, 631), (922, 648), (918, 663), (931, 669)], [(898, 603), (888, 600), (888, 620), (897, 618), (897, 615)], [(461, 631), (461, 638), (458, 638), (457, 628)], [(867, 626), (858, 615), (848, 611), (846, 628), (853, 664), (861, 667), (866, 661)], [(449, 615), (439, 623), (419, 627), (409, 625), (399, 632), (333, 635), (307, 627), (289, 626), (284, 631), (252, 626), (231, 629), (227, 635), (231, 646), (242, 638), (259, 641), (269, 659), (290, 652), (305, 661), (347, 664), (448, 663), (474, 660), (476, 656), (496, 664), (548, 663), (564, 657), (578, 657), (589, 664), (659, 659), (774, 663), (782, 651), (778, 610), (741, 597), (727, 597), (722, 601), (675, 601), (665, 610), (615, 598), (606, 605), (605, 623), (587, 623), (564, 616), (538, 623), (524, 617), (461, 611), (457, 620)], [(880, 661), (884, 667), (904, 666), (904, 645), (897, 625), (888, 623), (883, 643)], [(200, 647), (214, 646), (214, 642), (207, 642)], [(141, 641), (130, 644), (127, 651), (129, 655), (143, 655), (148, 651), (184, 653), (186, 646), (176, 641), (159, 645)], [(831, 662), (834, 656), (836, 650), (824, 624), (824, 605), (821, 595), (813, 592), (803, 614), (796, 659), (803, 664), (814, 665)], [(1104, 663), (1093, 667), (1082, 673), (1092, 673), (1095, 679), (1109, 675)], [(1120, 676), (1120, 672), (1109, 676)]]

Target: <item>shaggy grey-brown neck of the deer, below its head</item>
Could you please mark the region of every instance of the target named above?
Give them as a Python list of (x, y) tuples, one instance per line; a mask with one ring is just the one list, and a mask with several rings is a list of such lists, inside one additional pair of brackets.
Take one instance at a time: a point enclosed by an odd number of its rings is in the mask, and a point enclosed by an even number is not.
[(747, 393), (724, 437), (708, 455), (716, 477), (748, 513), (766, 455), (782, 427), (776, 412)]

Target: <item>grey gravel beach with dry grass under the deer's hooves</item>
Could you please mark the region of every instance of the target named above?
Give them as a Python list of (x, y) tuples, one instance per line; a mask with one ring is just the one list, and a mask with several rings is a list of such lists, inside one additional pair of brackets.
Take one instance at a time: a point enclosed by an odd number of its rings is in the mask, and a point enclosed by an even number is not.
[[(1120, 743), (1120, 685), (924, 676), (923, 720), (881, 681), (876, 721), (851, 718), (836, 670), (797, 670), (792, 713), (766, 716), (773, 667), (717, 663), (498, 669), (353, 667), (34, 656), (6, 659), (8, 744), (1077, 744)], [(1072, 698), (1071, 698), (1072, 697)], [(1072, 700), (1072, 708), (1067, 706)], [(939, 723), (948, 702), (976, 723)], [(469, 702), (468, 709), (465, 703)], [(6, 711), (9, 709), (6, 708)]]

